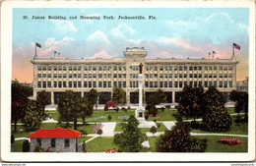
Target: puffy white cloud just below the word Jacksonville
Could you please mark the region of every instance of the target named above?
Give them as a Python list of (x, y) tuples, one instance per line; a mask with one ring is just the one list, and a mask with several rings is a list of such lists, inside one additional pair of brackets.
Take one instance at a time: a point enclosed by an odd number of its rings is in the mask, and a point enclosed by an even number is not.
[(136, 32), (134, 28), (129, 27), (126, 24), (120, 24), (117, 28), (113, 28), (111, 33), (115, 37), (127, 38), (127, 35), (132, 35)]

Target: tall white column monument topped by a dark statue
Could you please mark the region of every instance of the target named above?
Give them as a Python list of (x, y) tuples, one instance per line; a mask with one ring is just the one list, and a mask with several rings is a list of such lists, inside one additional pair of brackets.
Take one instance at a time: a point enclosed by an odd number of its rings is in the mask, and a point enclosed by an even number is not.
[(140, 67), (140, 74), (139, 74), (139, 107), (135, 111), (135, 117), (140, 122), (140, 125), (138, 128), (152, 128), (155, 126), (157, 128), (157, 125), (155, 122), (148, 122), (145, 119), (145, 108), (143, 106), (143, 64), (141, 63), (139, 65)]

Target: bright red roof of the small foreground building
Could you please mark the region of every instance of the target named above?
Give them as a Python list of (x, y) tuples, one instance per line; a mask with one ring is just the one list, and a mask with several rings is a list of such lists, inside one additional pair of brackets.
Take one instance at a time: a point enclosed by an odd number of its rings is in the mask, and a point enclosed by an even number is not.
[(78, 138), (81, 134), (69, 128), (61, 129), (58, 127), (56, 129), (40, 129), (27, 138)]

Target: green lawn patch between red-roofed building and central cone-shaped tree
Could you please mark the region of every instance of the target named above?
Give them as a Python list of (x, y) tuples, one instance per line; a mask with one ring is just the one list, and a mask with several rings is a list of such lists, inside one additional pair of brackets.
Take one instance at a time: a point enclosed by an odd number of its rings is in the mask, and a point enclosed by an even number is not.
[(114, 144), (114, 138), (95, 138), (86, 144), (86, 150), (89, 152), (104, 152), (106, 149), (117, 148)]

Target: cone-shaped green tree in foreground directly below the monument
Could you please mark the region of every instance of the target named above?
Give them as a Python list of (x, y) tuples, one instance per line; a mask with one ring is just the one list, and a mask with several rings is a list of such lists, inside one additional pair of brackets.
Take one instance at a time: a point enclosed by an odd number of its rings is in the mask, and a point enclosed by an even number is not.
[(118, 145), (120, 151), (139, 152), (142, 150), (142, 142), (147, 139), (147, 136), (141, 132), (138, 125), (139, 122), (132, 115), (129, 117), (128, 123), (122, 126), (124, 132), (114, 136), (114, 143)]

